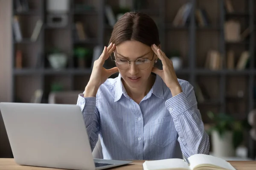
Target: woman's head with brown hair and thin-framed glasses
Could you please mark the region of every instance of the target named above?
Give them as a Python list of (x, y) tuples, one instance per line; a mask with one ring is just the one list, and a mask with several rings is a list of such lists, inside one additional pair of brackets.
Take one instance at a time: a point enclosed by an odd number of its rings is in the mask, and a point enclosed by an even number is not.
[(157, 60), (151, 45), (160, 45), (154, 20), (140, 12), (125, 13), (113, 27), (111, 42), (116, 45), (111, 57), (126, 84), (131, 88), (145, 84)]

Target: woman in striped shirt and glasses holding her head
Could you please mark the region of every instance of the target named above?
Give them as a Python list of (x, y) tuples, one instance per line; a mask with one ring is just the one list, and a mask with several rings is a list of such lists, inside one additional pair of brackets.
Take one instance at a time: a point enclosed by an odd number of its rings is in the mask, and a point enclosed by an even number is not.
[[(116, 67), (106, 70), (103, 64), (110, 55)], [(158, 58), (163, 70), (154, 67)], [(116, 72), (118, 77), (108, 78)], [(100, 134), (104, 159), (209, 154), (209, 136), (193, 87), (177, 79), (171, 60), (160, 49), (157, 26), (145, 14), (128, 12), (117, 21), (77, 105), (92, 150)]]

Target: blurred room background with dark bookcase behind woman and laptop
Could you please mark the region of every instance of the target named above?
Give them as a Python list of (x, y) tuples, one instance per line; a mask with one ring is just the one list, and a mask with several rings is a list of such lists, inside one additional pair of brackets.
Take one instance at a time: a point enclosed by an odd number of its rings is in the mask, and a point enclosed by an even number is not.
[[(0, 0), (0, 102), (76, 104), (116, 20), (135, 10), (194, 86), (210, 154), (255, 160), (255, 0)], [(0, 157), (12, 157), (2, 116)]]

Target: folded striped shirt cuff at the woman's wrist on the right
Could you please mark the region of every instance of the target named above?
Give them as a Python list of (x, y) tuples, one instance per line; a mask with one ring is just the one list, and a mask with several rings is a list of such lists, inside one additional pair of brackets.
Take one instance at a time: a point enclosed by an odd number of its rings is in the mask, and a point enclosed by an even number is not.
[(192, 107), (185, 92), (181, 92), (180, 94), (173, 96), (171, 99), (166, 100), (165, 104), (173, 117), (184, 113)]

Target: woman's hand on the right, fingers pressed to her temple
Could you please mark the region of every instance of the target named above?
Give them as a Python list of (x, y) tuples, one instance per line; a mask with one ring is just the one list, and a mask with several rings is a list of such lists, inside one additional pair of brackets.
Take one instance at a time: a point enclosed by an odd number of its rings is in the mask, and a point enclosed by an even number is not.
[(151, 48), (163, 63), (163, 70), (154, 67), (152, 69), (152, 72), (158, 74), (163, 79), (167, 87), (171, 90), (172, 96), (180, 94), (182, 92), (182, 89), (175, 74), (172, 60), (166, 57), (166, 54), (155, 44), (151, 45)]

